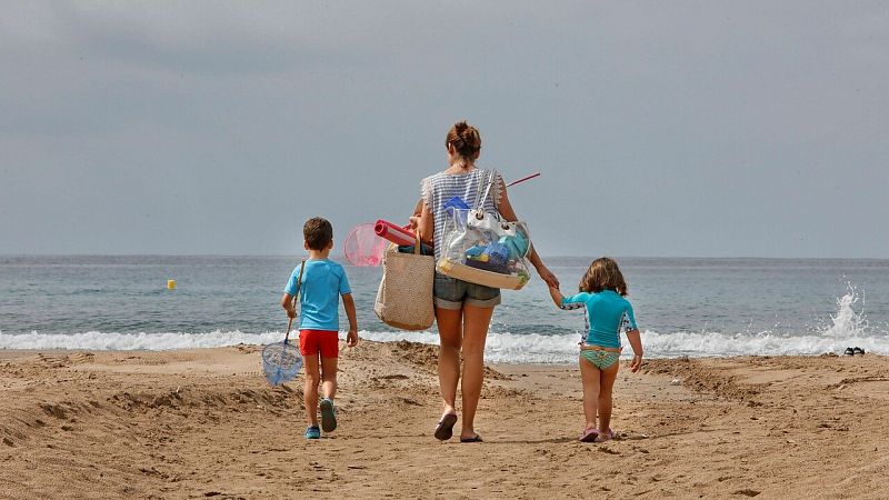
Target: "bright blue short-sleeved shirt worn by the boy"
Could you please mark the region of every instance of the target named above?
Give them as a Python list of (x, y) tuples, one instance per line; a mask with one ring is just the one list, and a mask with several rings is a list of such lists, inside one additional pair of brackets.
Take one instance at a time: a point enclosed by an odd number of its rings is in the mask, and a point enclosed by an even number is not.
[[(297, 264), (284, 292), (297, 293)], [(339, 331), (340, 296), (351, 293), (346, 270), (332, 260), (307, 260), (302, 273), (302, 287), (299, 290), (299, 329)]]

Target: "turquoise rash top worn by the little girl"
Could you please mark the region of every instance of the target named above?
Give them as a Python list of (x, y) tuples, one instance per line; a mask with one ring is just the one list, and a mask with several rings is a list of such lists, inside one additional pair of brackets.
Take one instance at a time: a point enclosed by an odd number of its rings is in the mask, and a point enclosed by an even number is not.
[(587, 334), (583, 343), (620, 348), (620, 331), (636, 330), (636, 316), (630, 301), (613, 290), (580, 292), (562, 299), (562, 309), (586, 308)]

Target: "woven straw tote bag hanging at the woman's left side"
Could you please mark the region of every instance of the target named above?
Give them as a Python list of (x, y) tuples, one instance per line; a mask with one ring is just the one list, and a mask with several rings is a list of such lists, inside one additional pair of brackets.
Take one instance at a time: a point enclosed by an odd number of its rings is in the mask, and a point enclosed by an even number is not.
[(413, 253), (399, 252), (392, 244), (383, 254), (382, 280), (373, 312), (390, 327), (426, 330), (436, 319), (432, 306), (436, 258), (421, 254), (421, 248), (417, 240)]

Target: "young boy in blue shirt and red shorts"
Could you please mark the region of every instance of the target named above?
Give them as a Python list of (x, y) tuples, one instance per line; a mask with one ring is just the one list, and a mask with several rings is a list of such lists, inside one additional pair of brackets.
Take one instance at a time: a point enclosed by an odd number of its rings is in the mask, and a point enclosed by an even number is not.
[[(337, 413), (333, 408), (333, 396), (337, 393), (337, 357), (339, 356), (339, 296), (346, 316), (349, 318), (349, 333), (346, 343), (349, 347), (358, 344), (358, 321), (354, 313), (354, 300), (349, 288), (346, 271), (337, 262), (328, 260), (333, 248), (333, 228), (330, 222), (320, 217), (313, 217), (302, 227), (306, 239), (306, 250), (309, 258), (304, 261), (302, 284), (299, 289), (300, 320), (299, 320), (299, 351), (302, 353), (306, 367), (306, 388), (303, 400), (309, 427), (306, 429), (306, 439), (319, 439), (321, 430), (318, 428), (318, 383), (322, 382), (321, 391), (321, 429), (331, 432), (337, 428)], [(289, 318), (296, 318), (293, 296), (297, 293), (297, 279), (300, 274), (298, 264), (290, 274), (290, 280), (281, 297), (281, 307)], [(319, 376), (320, 354), (320, 376)]]

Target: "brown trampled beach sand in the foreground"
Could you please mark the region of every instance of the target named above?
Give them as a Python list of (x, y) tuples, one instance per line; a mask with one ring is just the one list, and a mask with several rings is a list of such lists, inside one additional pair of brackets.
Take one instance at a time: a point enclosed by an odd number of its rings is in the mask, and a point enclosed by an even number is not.
[(341, 357), (339, 429), (259, 348), (0, 351), (4, 498), (888, 498), (889, 358), (653, 360), (583, 426), (576, 367), (495, 366), (483, 443), (436, 441), (436, 348)]

